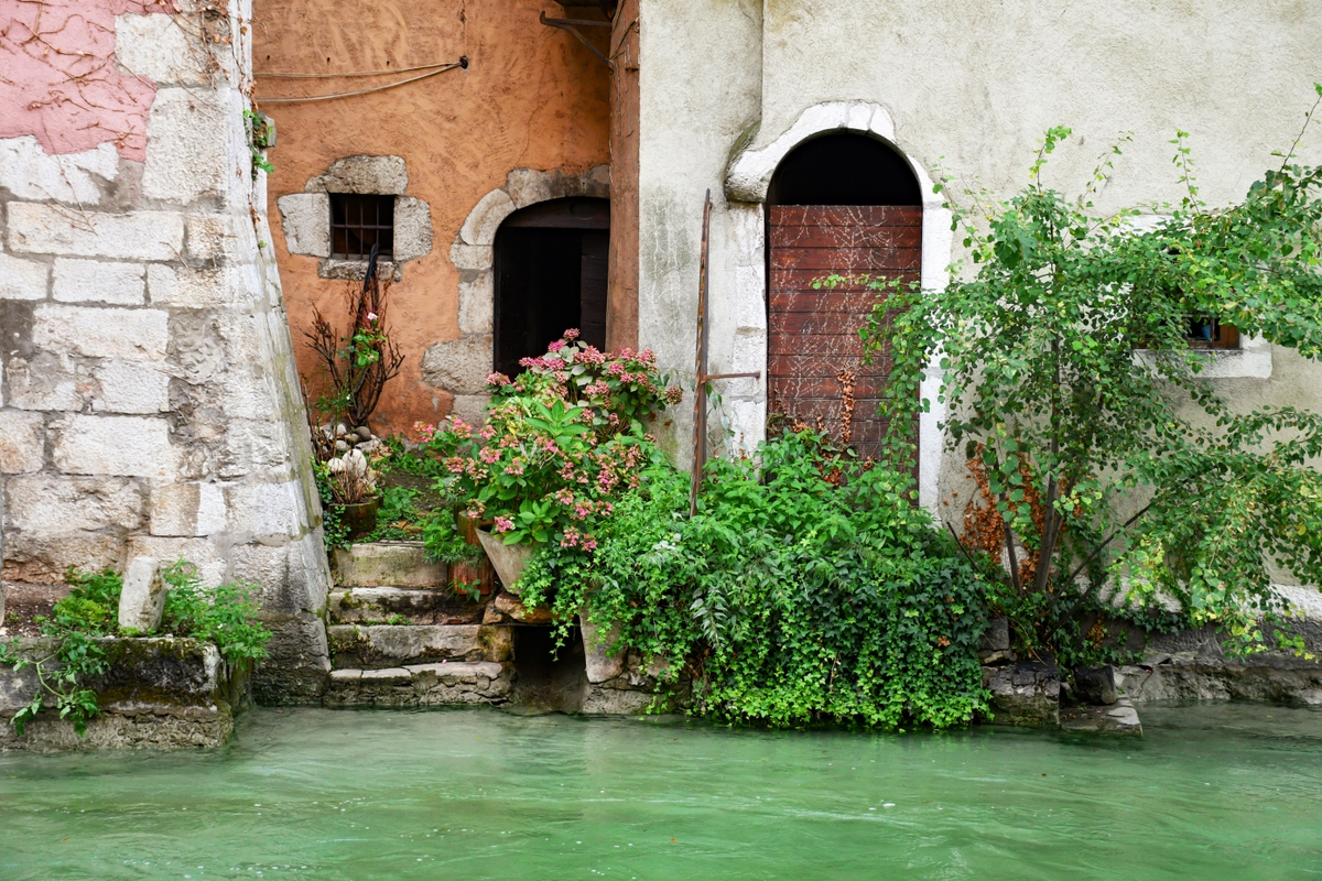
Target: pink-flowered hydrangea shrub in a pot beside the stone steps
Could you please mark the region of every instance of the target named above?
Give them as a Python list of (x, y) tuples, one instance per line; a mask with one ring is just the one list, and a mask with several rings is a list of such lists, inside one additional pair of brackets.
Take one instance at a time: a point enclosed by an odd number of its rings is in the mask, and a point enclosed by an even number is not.
[(594, 551), (584, 526), (609, 516), (658, 452), (644, 420), (676, 403), (650, 351), (598, 351), (576, 330), (545, 355), (520, 362), (516, 379), (488, 378), (486, 425), (459, 417), (418, 425), (422, 449), (443, 466), (438, 489), (469, 516), (489, 520), (506, 544), (554, 542)]

